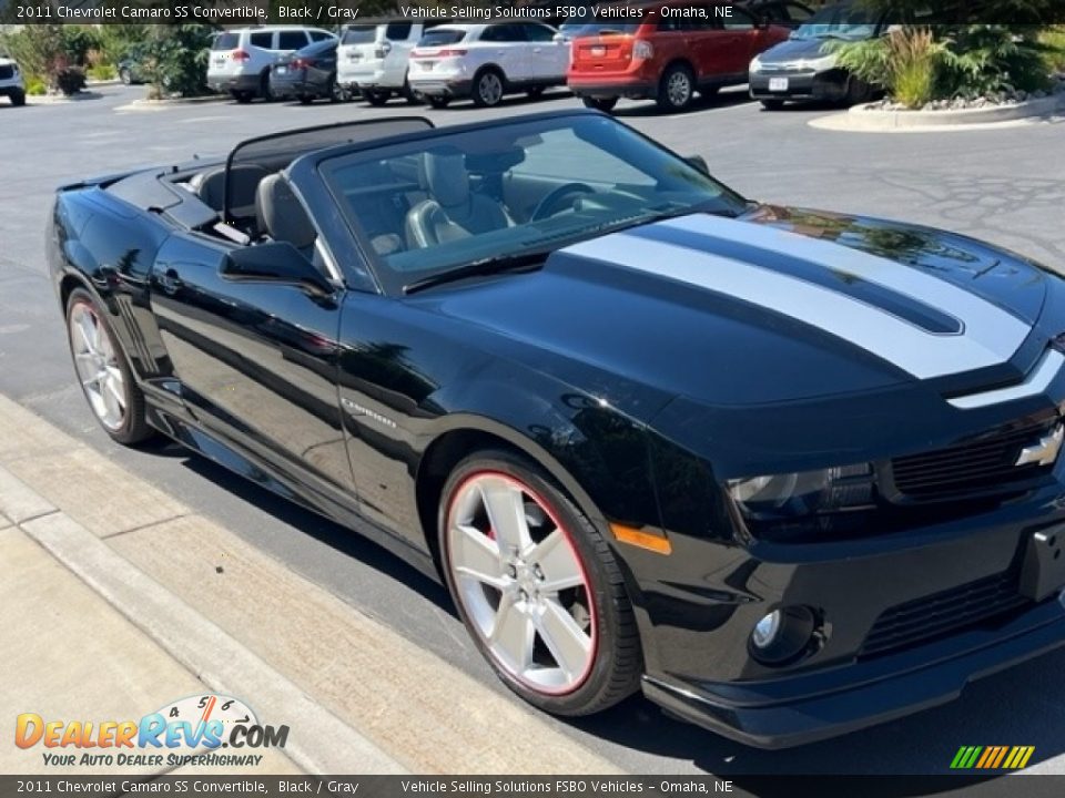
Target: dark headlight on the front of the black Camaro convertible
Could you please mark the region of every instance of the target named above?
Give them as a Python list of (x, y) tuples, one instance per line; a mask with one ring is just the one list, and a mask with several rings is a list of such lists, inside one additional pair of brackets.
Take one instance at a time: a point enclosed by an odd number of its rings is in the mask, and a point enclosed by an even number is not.
[(873, 500), (869, 463), (732, 479), (726, 489), (744, 518), (798, 520), (868, 507)]

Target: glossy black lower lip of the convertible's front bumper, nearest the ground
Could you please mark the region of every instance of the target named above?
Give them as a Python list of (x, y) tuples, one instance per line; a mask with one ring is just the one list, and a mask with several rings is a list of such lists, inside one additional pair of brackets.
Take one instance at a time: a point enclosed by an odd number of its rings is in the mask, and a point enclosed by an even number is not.
[(814, 743), (945, 704), (970, 682), (1065, 645), (1063, 595), (993, 632), (838, 671), (732, 685), (645, 677), (643, 693), (684, 720), (759, 748)]

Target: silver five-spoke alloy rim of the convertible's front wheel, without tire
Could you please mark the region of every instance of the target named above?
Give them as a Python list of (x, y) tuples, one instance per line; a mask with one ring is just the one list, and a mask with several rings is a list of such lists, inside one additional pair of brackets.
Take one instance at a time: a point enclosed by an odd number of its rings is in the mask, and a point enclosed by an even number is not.
[(596, 658), (591, 589), (545, 502), (513, 477), (474, 473), (454, 493), (446, 542), (456, 593), (498, 666), (541, 694), (580, 687)]

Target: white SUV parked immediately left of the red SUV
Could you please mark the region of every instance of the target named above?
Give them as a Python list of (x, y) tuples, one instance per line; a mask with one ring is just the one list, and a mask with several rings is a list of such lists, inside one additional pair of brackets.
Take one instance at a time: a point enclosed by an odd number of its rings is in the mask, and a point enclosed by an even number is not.
[(481, 108), (497, 105), (504, 94), (566, 83), (569, 43), (539, 22), (448, 24), (428, 31), (410, 53), (407, 81), (434, 108), (455, 98), (470, 98)]

